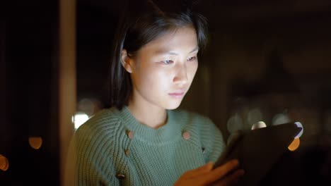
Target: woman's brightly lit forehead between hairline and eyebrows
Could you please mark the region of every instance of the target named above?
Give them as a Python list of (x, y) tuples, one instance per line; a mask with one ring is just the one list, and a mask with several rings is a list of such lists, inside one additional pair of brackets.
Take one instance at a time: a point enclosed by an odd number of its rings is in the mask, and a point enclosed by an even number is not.
[(197, 33), (192, 27), (179, 27), (176, 30), (165, 32), (145, 46), (141, 51), (153, 54), (162, 54), (168, 51), (186, 53), (197, 48)]

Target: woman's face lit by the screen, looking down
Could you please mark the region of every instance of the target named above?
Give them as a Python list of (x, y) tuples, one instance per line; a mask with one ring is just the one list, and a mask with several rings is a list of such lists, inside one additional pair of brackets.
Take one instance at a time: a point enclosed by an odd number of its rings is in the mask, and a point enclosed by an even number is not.
[(176, 109), (190, 88), (198, 67), (197, 35), (181, 27), (141, 47), (129, 58), (133, 104)]

